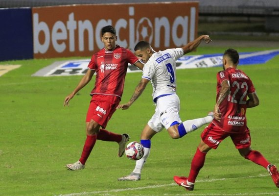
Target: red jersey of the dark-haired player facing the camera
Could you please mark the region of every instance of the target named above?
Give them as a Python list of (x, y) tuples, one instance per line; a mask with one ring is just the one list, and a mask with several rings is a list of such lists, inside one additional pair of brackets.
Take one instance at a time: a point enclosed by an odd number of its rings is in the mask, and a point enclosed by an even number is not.
[(121, 98), (128, 63), (135, 64), (139, 59), (129, 49), (116, 46), (112, 51), (105, 48), (93, 54), (88, 68), (95, 70), (95, 86), (90, 95), (113, 95)]

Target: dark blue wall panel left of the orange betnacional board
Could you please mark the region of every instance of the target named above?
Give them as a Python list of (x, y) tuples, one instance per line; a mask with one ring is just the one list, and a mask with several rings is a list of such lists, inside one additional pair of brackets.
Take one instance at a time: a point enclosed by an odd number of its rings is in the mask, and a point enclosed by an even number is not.
[(32, 10), (0, 9), (0, 61), (33, 58)]

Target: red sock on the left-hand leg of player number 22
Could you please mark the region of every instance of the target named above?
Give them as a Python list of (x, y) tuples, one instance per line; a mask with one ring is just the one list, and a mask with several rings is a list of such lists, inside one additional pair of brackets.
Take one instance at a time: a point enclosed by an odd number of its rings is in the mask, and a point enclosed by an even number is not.
[(207, 153), (201, 152), (199, 148), (197, 148), (197, 151), (192, 159), (191, 163), (191, 170), (188, 176), (188, 181), (195, 183), (196, 178), (204, 166), (205, 159), (206, 159)]

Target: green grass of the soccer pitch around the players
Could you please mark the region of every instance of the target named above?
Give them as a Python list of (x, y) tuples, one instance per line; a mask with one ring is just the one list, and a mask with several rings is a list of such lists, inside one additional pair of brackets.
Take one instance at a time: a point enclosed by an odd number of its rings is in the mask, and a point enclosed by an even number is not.
[[(223, 53), (225, 49), (203, 45), (191, 54)], [(235, 49), (244, 52), (270, 48)], [(266, 170), (242, 158), (229, 138), (209, 152), (193, 192), (186, 193), (174, 184), (174, 175), (188, 175), (204, 127), (179, 140), (171, 139), (165, 130), (154, 136), (142, 179), (137, 182), (117, 181), (133, 170), (135, 162), (124, 156), (118, 158), (118, 145), (110, 142), (97, 141), (85, 170), (67, 171), (65, 164), (78, 160), (85, 141), (85, 116), (93, 81), (70, 101), (70, 107), (63, 107), (64, 98), (81, 76), (31, 76), (58, 60), (65, 59), (0, 63), (22, 65), (0, 77), (1, 196), (279, 195)], [(278, 62), (279, 56), (266, 64), (239, 69), (251, 77), (260, 98), (260, 105), (247, 111), (252, 148), (279, 166)], [(220, 70), (177, 71), (183, 121), (203, 117), (212, 110), (216, 73)], [(127, 74), (122, 102), (129, 100), (140, 76)], [(142, 128), (154, 112), (151, 99), (149, 84), (129, 110), (116, 111), (107, 129), (129, 133), (130, 141), (139, 141)]]

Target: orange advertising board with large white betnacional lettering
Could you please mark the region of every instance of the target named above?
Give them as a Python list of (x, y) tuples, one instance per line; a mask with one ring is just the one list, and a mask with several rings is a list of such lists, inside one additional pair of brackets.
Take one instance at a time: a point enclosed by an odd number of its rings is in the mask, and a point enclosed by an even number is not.
[(101, 28), (106, 25), (116, 28), (118, 45), (132, 50), (141, 40), (162, 50), (184, 46), (197, 36), (198, 2), (110, 4), (110, 12), (107, 8), (32, 8), (34, 58), (91, 56), (104, 47)]

